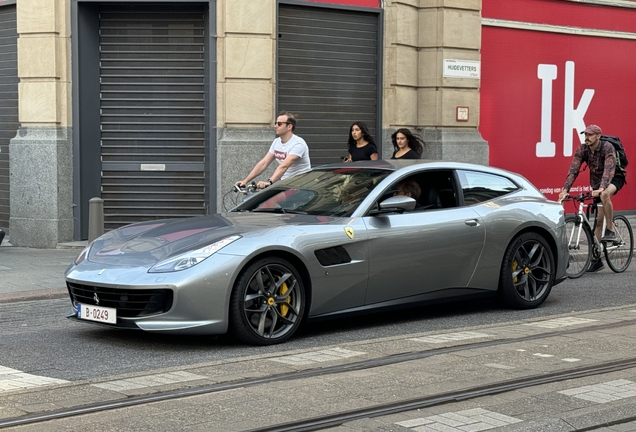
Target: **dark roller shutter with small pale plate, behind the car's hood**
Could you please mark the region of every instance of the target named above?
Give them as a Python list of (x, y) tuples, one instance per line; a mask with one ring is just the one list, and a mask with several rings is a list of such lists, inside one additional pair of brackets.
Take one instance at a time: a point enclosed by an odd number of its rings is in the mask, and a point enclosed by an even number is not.
[(104, 228), (207, 212), (205, 12), (100, 7)]

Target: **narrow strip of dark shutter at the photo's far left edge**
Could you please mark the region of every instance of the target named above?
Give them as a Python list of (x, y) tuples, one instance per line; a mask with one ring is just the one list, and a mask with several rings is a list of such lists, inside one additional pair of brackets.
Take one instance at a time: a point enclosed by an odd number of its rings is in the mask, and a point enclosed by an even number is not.
[(9, 226), (9, 141), (18, 127), (16, 7), (0, 7), (0, 226)]

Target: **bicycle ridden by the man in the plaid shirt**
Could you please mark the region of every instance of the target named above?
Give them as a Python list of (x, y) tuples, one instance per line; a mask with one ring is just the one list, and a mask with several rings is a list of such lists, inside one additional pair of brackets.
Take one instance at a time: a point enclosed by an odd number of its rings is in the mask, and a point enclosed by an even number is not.
[[(565, 217), (568, 252), (570, 254), (566, 275), (575, 279), (583, 276), (590, 267), (592, 259), (605, 255), (607, 265), (612, 271), (622, 273), (627, 270), (634, 254), (634, 234), (632, 226), (625, 216), (614, 215), (614, 232), (616, 240), (599, 241), (594, 235), (598, 221), (598, 208), (603, 207), (590, 193), (568, 196), (563, 201), (572, 201), (577, 206), (576, 214)], [(586, 204), (587, 201), (592, 201)], [(594, 223), (590, 222), (593, 219)], [(605, 232), (606, 220), (603, 219), (602, 233)]]

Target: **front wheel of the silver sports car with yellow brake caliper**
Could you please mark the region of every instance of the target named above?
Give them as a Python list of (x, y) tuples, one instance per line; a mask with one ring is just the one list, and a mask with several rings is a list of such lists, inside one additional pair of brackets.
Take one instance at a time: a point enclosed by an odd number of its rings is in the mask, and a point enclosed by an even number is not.
[(230, 331), (243, 343), (274, 345), (296, 332), (304, 312), (305, 287), (298, 271), (283, 258), (261, 258), (236, 280)]

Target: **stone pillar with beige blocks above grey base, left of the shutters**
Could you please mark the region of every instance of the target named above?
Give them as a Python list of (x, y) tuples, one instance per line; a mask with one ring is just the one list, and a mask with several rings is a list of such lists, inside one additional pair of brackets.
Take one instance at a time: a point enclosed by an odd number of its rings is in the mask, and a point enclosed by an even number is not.
[(10, 143), (11, 243), (73, 237), (70, 0), (17, 2), (20, 129)]

